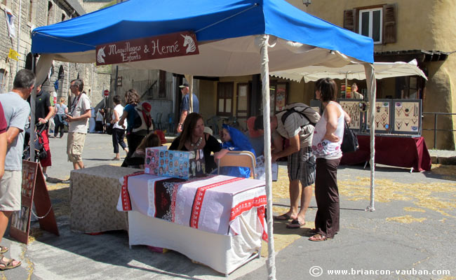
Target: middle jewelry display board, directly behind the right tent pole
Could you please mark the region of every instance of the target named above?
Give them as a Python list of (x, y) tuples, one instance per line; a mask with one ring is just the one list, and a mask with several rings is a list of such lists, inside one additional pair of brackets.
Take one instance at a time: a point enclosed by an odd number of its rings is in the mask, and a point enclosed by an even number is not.
[[(369, 104), (369, 103), (368, 103)], [(391, 99), (377, 99), (375, 100), (375, 132), (387, 133), (391, 131)], [(366, 130), (370, 130), (370, 115), (369, 110), (365, 113), (364, 120), (366, 120)]]

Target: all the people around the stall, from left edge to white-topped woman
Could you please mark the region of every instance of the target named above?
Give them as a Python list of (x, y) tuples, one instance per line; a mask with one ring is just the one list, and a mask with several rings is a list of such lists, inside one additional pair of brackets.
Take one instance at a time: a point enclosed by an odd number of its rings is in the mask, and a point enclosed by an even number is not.
[[(30, 116), (30, 105), (27, 102), (35, 86), (32, 71), (18, 71), (13, 83), (13, 90), (0, 94), (0, 241), (3, 237), (8, 219), (13, 211), (19, 211), (21, 206), (20, 191), (22, 181), (22, 152), (24, 147), (24, 132)], [(170, 150), (196, 151), (202, 150), (206, 161), (206, 173), (213, 172), (217, 165), (215, 160), (222, 158), (228, 151), (251, 151), (254, 155), (262, 153), (255, 151), (250, 144), (249, 134), (243, 134), (234, 127), (223, 125), (220, 144), (213, 135), (205, 132), (203, 117), (198, 113), (199, 102), (193, 97), (193, 112), (189, 113), (189, 88), (181, 85), (183, 99), (180, 113), (180, 123), (177, 126), (179, 136), (170, 145)], [(68, 124), (67, 156), (74, 169), (84, 167), (81, 158), (90, 113), (90, 99), (83, 93), (83, 81), (72, 80), (70, 90), (74, 95), (71, 106), (65, 106), (65, 99), (51, 106), (49, 97), (37, 86), (36, 125), (44, 126), (43, 135), (48, 134), (46, 124), (54, 117), (56, 120), (55, 136), (61, 126)], [(40, 93), (41, 92), (41, 93)], [(323, 115), (316, 113), (313, 120), (302, 114), (289, 114), (283, 118), (286, 111), (271, 117), (271, 136), (273, 151), (271, 160), (288, 158), (288, 177), (290, 180), (290, 209), (285, 214), (275, 216), (277, 220), (290, 221), (288, 228), (300, 228), (305, 224), (305, 215), (311, 195), (311, 186), (315, 184), (315, 197), (318, 210), (315, 218), (315, 234), (311, 241), (324, 241), (333, 238), (339, 231), (339, 195), (337, 190), (337, 167), (342, 158), (340, 146), (344, 133), (344, 120), (349, 122), (348, 114), (335, 102), (337, 86), (330, 78), (316, 82), (316, 99), (323, 104)], [(134, 109), (140, 102), (138, 92), (128, 90), (125, 94), (126, 106), (121, 105), (121, 97), (115, 96), (112, 111), (112, 144), (114, 160), (120, 160), (119, 146), (126, 152), (123, 166), (142, 167), (145, 158), (145, 148), (161, 146), (163, 137), (156, 132), (135, 132)], [(264, 130), (262, 116), (249, 119), (249, 128), (260, 137)], [(125, 124), (126, 123), (126, 124)], [(128, 146), (125, 143), (124, 134)], [(251, 136), (251, 135), (250, 135)], [(262, 138), (262, 137), (261, 137)], [(284, 140), (288, 139), (288, 146)], [(41, 161), (43, 170), (51, 165), (51, 152), (48, 148), (48, 138), (42, 137), (48, 152), (47, 160)], [(248, 168), (229, 168), (222, 174), (250, 177)], [(300, 185), (302, 194), (300, 197)], [(299, 208), (300, 202), (300, 209)], [(0, 270), (18, 267), (20, 261), (8, 259), (3, 254), (8, 248), (0, 246)]]

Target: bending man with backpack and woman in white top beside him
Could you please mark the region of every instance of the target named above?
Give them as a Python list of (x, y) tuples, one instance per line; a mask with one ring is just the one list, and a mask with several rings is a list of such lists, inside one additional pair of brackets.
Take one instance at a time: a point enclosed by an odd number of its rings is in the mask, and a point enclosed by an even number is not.
[[(311, 241), (325, 241), (339, 231), (339, 192), (337, 189), (337, 167), (342, 158), (340, 146), (344, 134), (344, 120), (350, 117), (337, 98), (337, 85), (330, 78), (323, 78), (315, 85), (316, 99), (323, 105), (323, 115), (309, 121), (301, 114), (291, 113), (285, 120), (286, 111), (271, 117), (273, 151), (271, 160), (288, 158), (288, 179), (290, 180), (290, 209), (274, 218), (291, 221), (287, 228), (301, 228), (313, 194), (317, 212), (314, 235)], [(309, 109), (312, 110), (312, 109)], [(255, 119), (255, 130), (264, 129), (262, 116)], [(283, 148), (283, 141), (289, 145)], [(300, 184), (302, 191), (300, 191)], [(301, 197), (300, 197), (301, 193)], [(298, 211), (298, 204), (300, 209)]]

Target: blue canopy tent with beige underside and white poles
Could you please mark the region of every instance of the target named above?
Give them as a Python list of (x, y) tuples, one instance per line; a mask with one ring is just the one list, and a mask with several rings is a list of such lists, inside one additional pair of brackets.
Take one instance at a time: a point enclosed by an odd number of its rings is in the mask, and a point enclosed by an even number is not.
[(96, 45), (178, 31), (196, 34), (199, 55), (130, 62), (123, 66), (199, 76), (261, 73), (264, 123), (267, 124), (264, 153), (267, 163), (268, 267), (269, 278), (274, 279), (269, 69), (281, 71), (311, 65), (363, 64), (370, 100), (375, 100), (373, 41), (304, 13), (284, 0), (130, 0), (34, 29), (32, 52), (41, 55), (36, 67), (37, 80), (44, 80), (54, 59), (95, 62)]

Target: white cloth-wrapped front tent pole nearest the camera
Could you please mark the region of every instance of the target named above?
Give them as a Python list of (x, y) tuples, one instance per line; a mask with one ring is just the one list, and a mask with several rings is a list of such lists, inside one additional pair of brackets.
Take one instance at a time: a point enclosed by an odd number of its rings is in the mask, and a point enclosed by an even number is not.
[(271, 176), (271, 120), (269, 118), (269, 35), (263, 34), (260, 38), (261, 80), (263, 95), (263, 123), (264, 123), (264, 172), (266, 175), (267, 195), (267, 233), (268, 233), (268, 279), (276, 279), (276, 255), (274, 252), (274, 228), (272, 221), (272, 176)]

